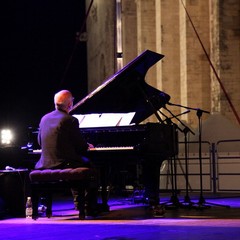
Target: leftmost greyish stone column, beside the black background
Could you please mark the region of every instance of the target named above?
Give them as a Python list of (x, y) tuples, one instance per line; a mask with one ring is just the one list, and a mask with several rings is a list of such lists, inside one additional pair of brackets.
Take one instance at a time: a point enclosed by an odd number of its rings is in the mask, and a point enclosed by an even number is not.
[(95, 0), (87, 19), (89, 92), (115, 72), (115, 29), (115, 1)]

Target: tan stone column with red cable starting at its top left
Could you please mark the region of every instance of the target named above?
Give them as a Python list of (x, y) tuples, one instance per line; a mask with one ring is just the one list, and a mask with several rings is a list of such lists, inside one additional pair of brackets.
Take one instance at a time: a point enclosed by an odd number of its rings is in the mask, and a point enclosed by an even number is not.
[[(185, 0), (183, 2), (194, 27), (180, 4), (180, 104), (210, 111), (210, 66), (200, 44), (201, 41), (209, 53), (209, 5), (208, 1)], [(206, 117), (208, 116), (203, 115), (203, 119)], [(186, 115), (186, 120), (190, 125), (197, 126), (196, 112)]]

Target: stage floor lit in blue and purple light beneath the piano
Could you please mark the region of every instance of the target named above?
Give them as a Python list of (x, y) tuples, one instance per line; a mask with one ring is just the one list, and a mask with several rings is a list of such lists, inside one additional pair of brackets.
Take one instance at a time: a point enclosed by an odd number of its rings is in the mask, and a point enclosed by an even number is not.
[[(37, 220), (6, 218), (0, 220), (2, 239), (240, 239), (240, 196), (234, 194), (190, 197), (192, 207), (172, 204), (169, 194), (162, 194), (161, 203), (166, 213), (153, 218), (148, 207), (134, 203), (131, 195), (110, 196), (110, 212), (97, 218), (78, 220), (69, 195), (56, 195), (53, 217)], [(177, 196), (182, 203), (184, 195)], [(202, 198), (201, 198), (202, 199)]]

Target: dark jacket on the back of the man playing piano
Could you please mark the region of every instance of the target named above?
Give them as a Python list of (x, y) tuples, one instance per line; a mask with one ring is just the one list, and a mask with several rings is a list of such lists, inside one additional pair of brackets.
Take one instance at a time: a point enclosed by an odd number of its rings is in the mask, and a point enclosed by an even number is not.
[(41, 119), (39, 144), (42, 148), (41, 158), (36, 168), (56, 168), (66, 162), (81, 163), (81, 152), (88, 144), (83, 139), (78, 120), (68, 113), (55, 110)]

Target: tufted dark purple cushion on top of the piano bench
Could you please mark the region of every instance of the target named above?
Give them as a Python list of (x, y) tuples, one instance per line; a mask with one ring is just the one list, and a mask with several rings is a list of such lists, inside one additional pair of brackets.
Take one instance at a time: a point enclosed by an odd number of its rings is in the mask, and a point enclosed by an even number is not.
[(86, 167), (33, 170), (29, 177), (31, 182), (75, 181), (91, 179), (94, 177), (94, 171)]

